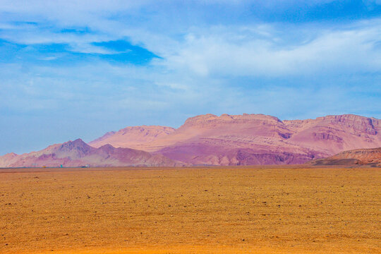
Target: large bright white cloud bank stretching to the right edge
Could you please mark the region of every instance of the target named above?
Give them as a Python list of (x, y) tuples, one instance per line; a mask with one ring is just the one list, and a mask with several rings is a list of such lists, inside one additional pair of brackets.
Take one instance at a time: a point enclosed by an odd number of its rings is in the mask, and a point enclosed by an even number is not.
[[(269, 25), (267, 25), (268, 27)], [(269, 31), (274, 30), (271, 28)], [(282, 31), (300, 32), (300, 31)], [(316, 72), (380, 71), (381, 22), (353, 28), (321, 29), (312, 39), (285, 42), (275, 31), (258, 37), (256, 30), (226, 27), (186, 35), (177, 52), (166, 57), (168, 68), (196, 75), (308, 75)], [(315, 32), (314, 32), (315, 33)]]

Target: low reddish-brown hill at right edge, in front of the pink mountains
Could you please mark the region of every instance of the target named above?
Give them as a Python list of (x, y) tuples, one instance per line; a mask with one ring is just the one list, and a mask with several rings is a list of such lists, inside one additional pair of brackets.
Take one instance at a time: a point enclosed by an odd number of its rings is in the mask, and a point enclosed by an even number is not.
[(312, 165), (370, 165), (381, 167), (381, 147), (370, 149), (356, 149), (340, 152), (325, 159), (315, 159), (308, 164)]

